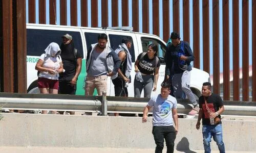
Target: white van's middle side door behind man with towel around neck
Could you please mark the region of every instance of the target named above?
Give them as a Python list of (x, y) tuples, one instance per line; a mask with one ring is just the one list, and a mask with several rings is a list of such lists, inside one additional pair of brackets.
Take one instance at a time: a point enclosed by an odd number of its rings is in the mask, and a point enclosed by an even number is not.
[[(135, 60), (137, 59), (139, 50), (138, 50), (138, 44), (136, 40), (136, 36), (134, 33), (131, 32), (123, 32), (123, 31), (106, 31), (106, 34), (109, 36), (109, 42), (111, 48), (114, 50), (118, 48), (118, 45), (122, 43), (122, 39), (124, 37), (130, 37), (133, 42), (132, 42), (132, 47), (129, 49), (129, 52), (132, 56), (132, 71), (131, 71), (131, 83), (127, 87), (128, 90), (128, 96), (129, 97), (134, 97), (134, 78), (135, 78), (135, 71), (134, 71), (134, 63)], [(115, 96), (115, 90), (114, 90), (114, 85), (112, 81), (109, 82), (111, 88), (109, 90), (109, 93), (111, 96)]]

